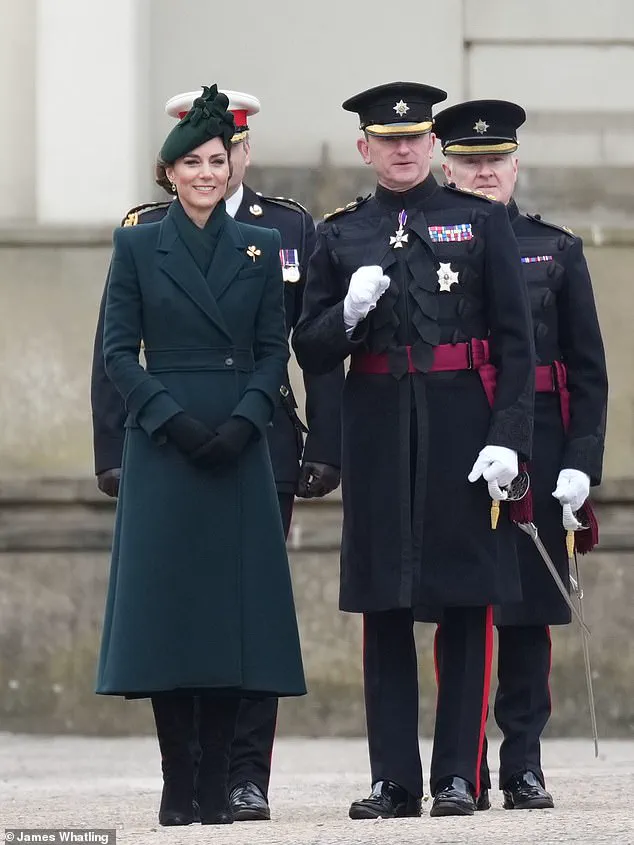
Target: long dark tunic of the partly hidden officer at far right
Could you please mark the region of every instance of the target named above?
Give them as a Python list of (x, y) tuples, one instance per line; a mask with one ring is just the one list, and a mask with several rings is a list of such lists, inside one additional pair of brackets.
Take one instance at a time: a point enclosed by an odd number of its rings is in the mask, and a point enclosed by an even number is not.
[[(538, 366), (565, 364), (570, 427), (564, 432), (558, 393), (535, 394), (530, 464), (534, 519), (564, 583), (568, 557), (561, 505), (553, 498), (560, 470), (578, 469), (601, 481), (607, 404), (605, 353), (581, 239), (539, 217), (509, 216), (519, 243), (531, 303)], [(517, 538), (522, 601), (496, 609), (498, 625), (561, 625), (570, 610), (530, 537)]]

